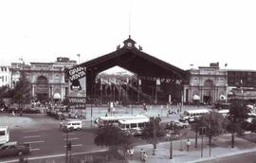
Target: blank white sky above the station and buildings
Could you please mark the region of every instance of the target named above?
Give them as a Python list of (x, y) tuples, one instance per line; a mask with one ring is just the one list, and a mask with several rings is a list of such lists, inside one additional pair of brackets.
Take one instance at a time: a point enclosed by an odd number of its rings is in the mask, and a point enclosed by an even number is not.
[(0, 22), (1, 65), (83, 63), (130, 34), (144, 52), (181, 69), (219, 62), (256, 70), (255, 0), (0, 0)]

